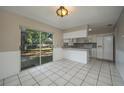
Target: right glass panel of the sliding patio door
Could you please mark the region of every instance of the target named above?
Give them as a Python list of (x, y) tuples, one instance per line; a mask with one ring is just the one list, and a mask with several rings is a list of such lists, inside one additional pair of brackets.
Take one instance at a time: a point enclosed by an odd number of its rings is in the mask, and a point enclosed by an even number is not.
[(53, 60), (53, 35), (48, 32), (41, 32), (41, 64)]

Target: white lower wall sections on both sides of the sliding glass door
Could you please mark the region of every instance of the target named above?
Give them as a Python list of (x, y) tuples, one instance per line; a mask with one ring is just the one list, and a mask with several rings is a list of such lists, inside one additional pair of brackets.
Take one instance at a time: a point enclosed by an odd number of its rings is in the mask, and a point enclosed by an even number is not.
[[(53, 49), (53, 61), (63, 58), (63, 49)], [(0, 52), (0, 80), (17, 74), (21, 69), (20, 51)]]

